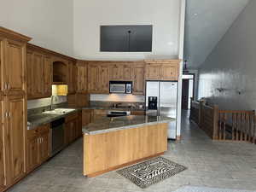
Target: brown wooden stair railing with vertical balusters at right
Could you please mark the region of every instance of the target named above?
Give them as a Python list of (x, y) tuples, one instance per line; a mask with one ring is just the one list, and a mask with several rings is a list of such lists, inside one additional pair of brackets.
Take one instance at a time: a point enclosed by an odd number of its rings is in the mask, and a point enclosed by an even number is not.
[(213, 140), (256, 143), (254, 111), (219, 110), (217, 105), (192, 101), (189, 119)]

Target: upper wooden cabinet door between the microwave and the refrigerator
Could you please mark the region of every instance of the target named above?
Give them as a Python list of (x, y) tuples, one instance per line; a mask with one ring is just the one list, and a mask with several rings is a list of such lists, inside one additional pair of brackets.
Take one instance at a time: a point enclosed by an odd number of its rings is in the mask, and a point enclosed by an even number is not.
[(133, 67), (132, 68), (132, 78), (133, 78), (133, 90), (134, 95), (144, 94), (144, 67)]

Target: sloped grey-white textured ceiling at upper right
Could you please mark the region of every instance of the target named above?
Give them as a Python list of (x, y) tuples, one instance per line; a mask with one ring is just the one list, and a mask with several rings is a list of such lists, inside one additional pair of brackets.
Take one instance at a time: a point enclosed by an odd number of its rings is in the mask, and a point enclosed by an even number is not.
[(199, 68), (206, 61), (249, 1), (187, 0), (184, 58), (188, 68)]

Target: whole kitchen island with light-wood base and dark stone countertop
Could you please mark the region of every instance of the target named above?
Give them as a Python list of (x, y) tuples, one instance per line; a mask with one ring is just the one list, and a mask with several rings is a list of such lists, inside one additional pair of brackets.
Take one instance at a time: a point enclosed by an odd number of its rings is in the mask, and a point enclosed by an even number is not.
[(83, 127), (84, 176), (129, 166), (167, 150), (167, 124), (172, 118), (131, 115), (103, 117)]

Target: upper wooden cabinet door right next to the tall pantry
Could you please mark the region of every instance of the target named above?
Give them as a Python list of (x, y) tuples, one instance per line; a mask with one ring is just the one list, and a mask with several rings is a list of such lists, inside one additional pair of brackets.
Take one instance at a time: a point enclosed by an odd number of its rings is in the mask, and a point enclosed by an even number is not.
[(44, 96), (44, 57), (41, 54), (34, 53), (32, 62), (32, 95), (34, 98)]

